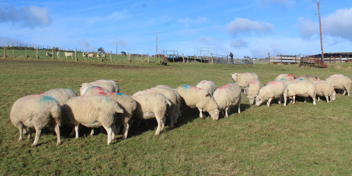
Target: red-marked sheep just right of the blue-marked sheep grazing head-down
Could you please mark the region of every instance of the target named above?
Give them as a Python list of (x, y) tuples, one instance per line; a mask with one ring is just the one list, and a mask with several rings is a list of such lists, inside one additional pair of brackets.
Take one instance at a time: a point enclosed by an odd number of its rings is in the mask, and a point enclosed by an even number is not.
[(228, 118), (228, 112), (230, 112), (231, 107), (236, 104), (238, 106), (238, 114), (241, 113), (240, 104), (242, 92), (241, 87), (237, 83), (228, 83), (225, 86), (217, 88), (213, 96), (219, 109), (225, 109), (225, 118)]

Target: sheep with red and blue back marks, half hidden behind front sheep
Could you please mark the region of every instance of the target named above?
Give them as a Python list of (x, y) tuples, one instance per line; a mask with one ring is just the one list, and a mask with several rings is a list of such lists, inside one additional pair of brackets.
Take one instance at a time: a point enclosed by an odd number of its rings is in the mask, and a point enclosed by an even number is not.
[[(114, 131), (114, 133), (118, 134), (120, 132), (121, 125), (123, 125), (124, 130), (122, 131), (122, 139), (126, 139), (128, 130), (130, 129), (130, 125), (128, 124), (128, 122), (131, 120), (134, 110), (136, 110), (136, 101), (134, 101), (129, 95), (109, 92), (107, 89), (99, 86), (89, 87), (84, 93), (84, 95), (103, 95), (111, 98), (119, 104), (120, 108), (124, 111), (124, 113), (116, 115), (115, 125), (117, 125), (117, 131)], [(93, 135), (93, 133), (94, 131), (92, 129), (92, 132), (90, 134)]]

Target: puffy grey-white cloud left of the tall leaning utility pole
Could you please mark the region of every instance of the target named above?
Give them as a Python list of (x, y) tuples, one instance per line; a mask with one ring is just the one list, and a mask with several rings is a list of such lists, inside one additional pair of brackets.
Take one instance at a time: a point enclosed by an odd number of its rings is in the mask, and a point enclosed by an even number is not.
[(250, 34), (250, 33), (271, 33), (274, 31), (274, 26), (268, 22), (252, 21), (246, 18), (235, 18), (226, 25), (226, 31), (233, 37), (238, 34)]

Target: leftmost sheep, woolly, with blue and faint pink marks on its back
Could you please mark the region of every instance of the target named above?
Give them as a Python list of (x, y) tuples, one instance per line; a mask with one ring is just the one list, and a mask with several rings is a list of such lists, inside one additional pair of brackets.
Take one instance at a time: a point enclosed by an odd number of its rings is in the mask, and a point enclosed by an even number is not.
[(15, 101), (10, 111), (10, 119), (19, 129), (19, 142), (22, 141), (23, 127), (29, 127), (28, 138), (31, 138), (32, 128), (36, 130), (36, 138), (32, 147), (38, 144), (42, 129), (49, 125), (55, 128), (56, 145), (61, 144), (60, 129), (61, 109), (57, 100), (46, 95), (28, 95)]

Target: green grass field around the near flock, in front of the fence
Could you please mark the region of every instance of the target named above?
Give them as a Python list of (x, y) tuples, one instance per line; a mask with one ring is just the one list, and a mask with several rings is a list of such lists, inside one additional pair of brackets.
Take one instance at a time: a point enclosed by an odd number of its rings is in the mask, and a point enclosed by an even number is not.
[[(122, 65), (124, 65), (123, 62)], [(106, 132), (80, 138), (61, 128), (62, 145), (44, 131), (38, 147), (33, 139), (18, 142), (19, 132), (10, 121), (12, 104), (20, 97), (53, 88), (70, 88), (98, 79), (115, 80), (128, 95), (167, 84), (176, 88), (211, 80), (217, 87), (231, 82), (231, 73), (254, 72), (262, 83), (278, 74), (332, 74), (352, 77), (352, 63), (329, 64), (328, 69), (297, 65), (215, 65), (168, 63), (168, 66), (103, 65), (101, 62), (43, 61), (24, 58), (0, 60), (0, 175), (351, 175), (352, 97), (286, 107), (272, 101), (268, 108), (250, 106), (243, 98), (241, 114), (232, 108), (230, 118), (213, 121), (197, 109), (186, 109), (175, 129), (170, 121), (159, 136), (157, 123), (134, 122), (126, 140), (106, 145)], [(246, 95), (243, 94), (243, 97)]]

